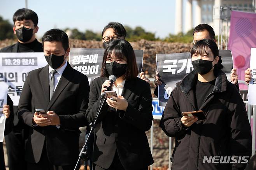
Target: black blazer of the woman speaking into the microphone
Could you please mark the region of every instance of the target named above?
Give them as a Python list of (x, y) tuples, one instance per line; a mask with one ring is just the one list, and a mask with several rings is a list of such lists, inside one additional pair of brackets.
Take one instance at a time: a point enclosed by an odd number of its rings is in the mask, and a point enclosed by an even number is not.
[[(105, 80), (107, 77), (98, 77), (91, 82), (86, 111), (90, 122), (95, 119)], [(140, 78), (126, 80), (122, 95), (129, 103), (126, 112), (117, 110), (116, 113), (106, 103), (102, 107), (96, 124), (94, 163), (109, 168), (117, 150), (125, 169), (145, 168), (154, 162), (145, 133), (153, 120), (149, 83)]]

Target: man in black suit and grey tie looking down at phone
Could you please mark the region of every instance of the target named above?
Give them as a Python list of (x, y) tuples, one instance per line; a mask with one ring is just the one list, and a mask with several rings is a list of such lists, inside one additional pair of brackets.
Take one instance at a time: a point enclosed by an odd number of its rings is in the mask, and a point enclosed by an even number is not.
[(18, 116), (30, 127), (25, 159), (28, 170), (70, 170), (79, 154), (79, 127), (88, 125), (89, 82), (65, 60), (65, 32), (51, 29), (42, 42), (49, 65), (28, 74), (19, 100)]

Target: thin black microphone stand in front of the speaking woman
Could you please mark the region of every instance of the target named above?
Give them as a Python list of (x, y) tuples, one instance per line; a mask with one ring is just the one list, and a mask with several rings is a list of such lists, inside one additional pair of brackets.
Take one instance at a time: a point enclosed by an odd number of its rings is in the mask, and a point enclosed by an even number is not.
[[(104, 93), (103, 93), (103, 94), (104, 94)], [(102, 101), (102, 99), (103, 99), (103, 96), (104, 96), (104, 100), (103, 100), (103, 102), (101, 103), (101, 101)], [(96, 121), (97, 121), (97, 119), (98, 119), (98, 116), (99, 116), (99, 114), (100, 114), (100, 111), (101, 111), (101, 109), (102, 109), (102, 106), (103, 106), (103, 104), (104, 104), (104, 102), (105, 102), (105, 100), (106, 100), (106, 98), (107, 98), (105, 95), (103, 95), (103, 96), (102, 96), (101, 99), (100, 99), (100, 106), (99, 106), (98, 112), (97, 112), (97, 114), (96, 114), (96, 116), (95, 116), (94, 123), (91, 122), (91, 123), (89, 124), (89, 126), (91, 127), (91, 130), (90, 130), (89, 135), (88, 135), (88, 137), (87, 137), (87, 139), (86, 139), (86, 141), (85, 141), (85, 143), (84, 143), (84, 146), (82, 147), (82, 149), (81, 149), (81, 151), (80, 151), (80, 153), (79, 153), (79, 158), (78, 158), (78, 160), (77, 160), (77, 163), (76, 163), (76, 165), (75, 165), (74, 170), (79, 170), (79, 168), (80, 168), (79, 165), (80, 165), (81, 159), (85, 162), (84, 167), (87, 168), (87, 162), (88, 162), (89, 158), (88, 158), (88, 152), (87, 152), (86, 146), (88, 145), (89, 138), (91, 137), (91, 134), (92, 134), (93, 130), (95, 129)], [(78, 169), (77, 169), (77, 168), (78, 168)], [(86, 170), (86, 168), (85, 168), (85, 170)]]

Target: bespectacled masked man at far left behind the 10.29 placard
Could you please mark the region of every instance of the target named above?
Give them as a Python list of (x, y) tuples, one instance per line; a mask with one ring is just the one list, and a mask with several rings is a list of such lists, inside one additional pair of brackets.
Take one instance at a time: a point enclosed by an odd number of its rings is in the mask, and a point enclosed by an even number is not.
[[(14, 13), (12, 20), (18, 42), (1, 49), (0, 52), (43, 52), (42, 43), (35, 38), (35, 33), (39, 29), (37, 14), (33, 10), (23, 8)], [(18, 120), (17, 108), (18, 106), (14, 106), (13, 130), (5, 136), (9, 170), (26, 169), (24, 141), (28, 127)]]

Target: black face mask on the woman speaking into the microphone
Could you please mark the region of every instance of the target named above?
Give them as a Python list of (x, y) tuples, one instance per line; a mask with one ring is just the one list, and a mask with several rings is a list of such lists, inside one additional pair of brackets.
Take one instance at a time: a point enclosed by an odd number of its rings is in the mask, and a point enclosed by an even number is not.
[(121, 77), (126, 72), (127, 64), (120, 64), (116, 61), (106, 63), (107, 73), (114, 75), (116, 78)]

